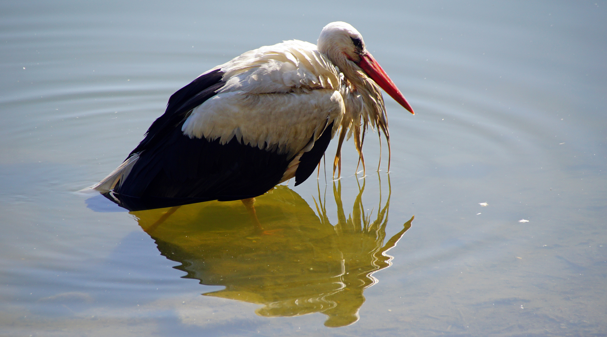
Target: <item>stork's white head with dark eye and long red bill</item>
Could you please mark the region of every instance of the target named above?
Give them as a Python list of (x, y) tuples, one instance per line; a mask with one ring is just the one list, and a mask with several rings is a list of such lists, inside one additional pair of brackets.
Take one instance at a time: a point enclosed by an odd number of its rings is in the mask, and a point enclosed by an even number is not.
[(337, 21), (325, 26), (320, 32), (317, 48), (319, 52), (327, 55), (350, 82), (359, 82), (357, 77), (361, 76), (362, 71), (396, 102), (415, 114), (401, 91), (368, 52), (361, 33), (350, 24)]

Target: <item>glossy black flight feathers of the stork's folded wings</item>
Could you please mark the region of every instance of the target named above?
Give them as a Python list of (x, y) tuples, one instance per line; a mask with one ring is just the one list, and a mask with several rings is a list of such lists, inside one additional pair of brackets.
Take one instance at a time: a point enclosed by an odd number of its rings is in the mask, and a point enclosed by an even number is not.
[[(106, 193), (110, 200), (117, 198), (129, 210), (143, 210), (253, 198), (278, 184), (291, 160), (287, 154), (240, 144), (236, 137), (222, 145), (219, 139), (190, 138), (181, 131), (190, 111), (225, 84), (222, 75), (219, 69), (201, 75), (171, 96), (165, 113), (131, 152), (139, 156), (131, 172)], [(331, 139), (332, 127), (300, 158), (296, 184), (314, 171)]]

